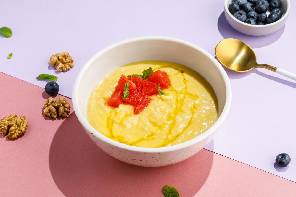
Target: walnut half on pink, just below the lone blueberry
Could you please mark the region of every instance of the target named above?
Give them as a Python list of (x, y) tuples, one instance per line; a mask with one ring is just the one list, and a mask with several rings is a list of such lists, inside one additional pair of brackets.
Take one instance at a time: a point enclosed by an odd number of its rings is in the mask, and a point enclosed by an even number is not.
[(60, 117), (67, 118), (70, 113), (70, 104), (65, 97), (59, 97), (59, 100), (49, 97), (43, 106), (43, 114), (48, 117), (56, 118), (57, 112)]

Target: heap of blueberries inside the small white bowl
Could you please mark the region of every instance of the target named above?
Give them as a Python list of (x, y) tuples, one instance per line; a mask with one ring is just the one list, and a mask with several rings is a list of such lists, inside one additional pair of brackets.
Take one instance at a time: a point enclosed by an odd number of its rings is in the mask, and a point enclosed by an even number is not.
[[(229, 12), (238, 20), (251, 25), (276, 22), (283, 16), (278, 0), (232, 0)], [(267, 16), (267, 10), (270, 14)]]

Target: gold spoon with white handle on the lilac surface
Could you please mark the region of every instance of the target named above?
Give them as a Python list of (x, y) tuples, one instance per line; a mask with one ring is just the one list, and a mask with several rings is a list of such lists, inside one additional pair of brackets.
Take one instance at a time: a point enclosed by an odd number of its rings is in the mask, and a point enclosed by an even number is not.
[(296, 80), (296, 75), (292, 72), (267, 64), (257, 64), (255, 52), (249, 45), (240, 40), (233, 38), (222, 40), (217, 44), (215, 53), (218, 61), (230, 70), (248, 72), (254, 68), (267, 68), (280, 75)]

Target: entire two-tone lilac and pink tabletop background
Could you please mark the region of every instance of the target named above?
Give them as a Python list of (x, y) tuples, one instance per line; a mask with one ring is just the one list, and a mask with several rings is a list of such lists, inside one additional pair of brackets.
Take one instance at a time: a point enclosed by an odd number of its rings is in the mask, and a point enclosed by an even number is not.
[[(94, 53), (144, 35), (183, 39), (213, 56), (219, 41), (237, 38), (254, 49), (258, 63), (296, 73), (295, 1), (286, 24), (259, 37), (231, 28), (218, 0), (2, 1), (1, 6), (1, 27), (10, 27), (13, 36), (0, 36), (0, 118), (24, 115), (29, 127), (17, 140), (0, 135), (0, 196), (163, 196), (167, 184), (181, 196), (295, 195), (296, 183), (289, 181), (296, 177), (293, 80), (263, 69), (226, 70), (231, 110), (206, 147), (218, 154), (204, 149), (184, 162), (157, 168), (132, 166), (105, 154), (86, 135), (73, 108), (67, 119), (44, 117), (46, 81), (36, 80), (41, 73), (57, 75), (59, 93), (71, 97), (79, 69)], [(62, 51), (70, 53), (75, 66), (60, 73), (48, 62)], [(286, 168), (274, 165), (281, 152), (292, 158)]]

